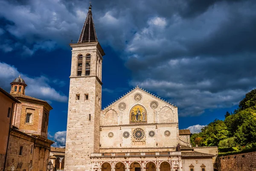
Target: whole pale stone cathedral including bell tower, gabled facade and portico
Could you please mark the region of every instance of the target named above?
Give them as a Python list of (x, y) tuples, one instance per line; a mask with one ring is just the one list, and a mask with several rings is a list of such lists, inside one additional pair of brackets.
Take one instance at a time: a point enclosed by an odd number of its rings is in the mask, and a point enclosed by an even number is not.
[(158, 96), (137, 86), (102, 110), (105, 52), (91, 7), (70, 46), (65, 171), (215, 170), (216, 147), (192, 148), (190, 131), (179, 130), (177, 107)]

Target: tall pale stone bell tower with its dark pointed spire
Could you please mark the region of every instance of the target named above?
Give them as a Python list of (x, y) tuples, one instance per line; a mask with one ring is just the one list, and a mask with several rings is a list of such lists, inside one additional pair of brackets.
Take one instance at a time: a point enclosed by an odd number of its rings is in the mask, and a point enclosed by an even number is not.
[(102, 56), (91, 7), (79, 41), (71, 43), (65, 171), (90, 171), (90, 154), (99, 153)]

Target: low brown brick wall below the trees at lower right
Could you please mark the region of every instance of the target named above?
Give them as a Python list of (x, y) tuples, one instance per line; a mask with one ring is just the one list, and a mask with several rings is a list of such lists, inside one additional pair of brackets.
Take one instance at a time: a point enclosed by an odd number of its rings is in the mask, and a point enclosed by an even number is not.
[(256, 151), (217, 158), (218, 171), (256, 171)]

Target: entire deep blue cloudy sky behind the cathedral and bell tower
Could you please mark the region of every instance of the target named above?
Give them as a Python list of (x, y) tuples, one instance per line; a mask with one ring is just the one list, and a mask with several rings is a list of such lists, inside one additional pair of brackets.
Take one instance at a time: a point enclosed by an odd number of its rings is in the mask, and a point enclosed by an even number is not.
[[(256, 87), (253, 0), (92, 1), (106, 55), (102, 108), (136, 85), (178, 106), (180, 129), (224, 119)], [(71, 40), (87, 0), (0, 0), (0, 87), (19, 73), (26, 95), (48, 101), (49, 138), (63, 146)]]

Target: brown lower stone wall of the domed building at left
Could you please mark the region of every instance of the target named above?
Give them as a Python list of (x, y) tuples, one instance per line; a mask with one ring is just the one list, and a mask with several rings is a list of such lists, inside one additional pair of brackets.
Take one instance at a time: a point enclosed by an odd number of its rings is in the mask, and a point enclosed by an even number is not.
[[(15, 166), (15, 171), (24, 171), (24, 169), (29, 171), (31, 160), (32, 171), (45, 171), (50, 145), (45, 141), (38, 140), (20, 131), (12, 130), (10, 133), (5, 171), (10, 171), (12, 165)], [(21, 155), (20, 146), (23, 147)], [(20, 164), (20, 167), (18, 167), (18, 164)]]

